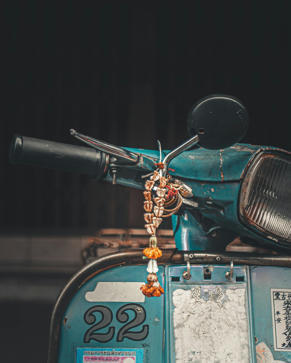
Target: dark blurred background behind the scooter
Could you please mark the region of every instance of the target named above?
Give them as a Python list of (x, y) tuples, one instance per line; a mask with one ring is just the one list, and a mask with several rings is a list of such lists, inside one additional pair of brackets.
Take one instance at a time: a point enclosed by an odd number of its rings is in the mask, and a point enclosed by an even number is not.
[[(118, 242), (144, 225), (139, 190), (10, 164), (13, 134), (81, 145), (73, 128), (119, 146), (156, 149), (159, 139), (169, 150), (189, 138), (192, 105), (220, 93), (248, 110), (242, 142), (290, 150), (290, 8), (289, 0), (1, 1), (2, 359), (45, 362), (53, 303), (81, 267), (81, 250), (101, 228), (119, 229)], [(171, 222), (161, 227), (167, 235)]]

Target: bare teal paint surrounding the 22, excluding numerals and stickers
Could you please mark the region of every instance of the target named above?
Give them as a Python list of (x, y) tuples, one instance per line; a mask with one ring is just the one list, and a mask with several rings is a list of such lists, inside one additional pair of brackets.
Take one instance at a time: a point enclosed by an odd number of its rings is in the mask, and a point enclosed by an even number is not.
[[(161, 284), (164, 285), (164, 267), (159, 266), (158, 277)], [(88, 281), (86, 281), (80, 289), (68, 302), (67, 309), (63, 315), (64, 325), (60, 326), (59, 332), (59, 354), (58, 363), (75, 363), (76, 348), (142, 348), (144, 349), (144, 362), (155, 363), (163, 362), (163, 346), (164, 346), (164, 299), (163, 298), (146, 298), (144, 303), (139, 302), (146, 311), (146, 321), (131, 331), (139, 331), (144, 325), (149, 326), (147, 338), (141, 341), (134, 341), (124, 338), (123, 341), (117, 342), (117, 334), (125, 323), (117, 320), (116, 313), (120, 307), (127, 305), (129, 302), (89, 302), (85, 299), (87, 291), (93, 291), (97, 282), (139, 282), (144, 281), (146, 277), (145, 266), (119, 266), (100, 272)], [(134, 301), (134, 297), (132, 299)], [(84, 336), (88, 329), (92, 327), (84, 320), (85, 312), (92, 306), (105, 306), (112, 311), (112, 322), (108, 327), (97, 331), (96, 333), (107, 333), (109, 327), (115, 327), (115, 334), (112, 339), (106, 343), (100, 343), (93, 339), (89, 343), (84, 343)], [(134, 318), (134, 312), (126, 311), (129, 321)], [(94, 313), (96, 322), (101, 320), (101, 313)], [(89, 349), (88, 349), (89, 350)]]

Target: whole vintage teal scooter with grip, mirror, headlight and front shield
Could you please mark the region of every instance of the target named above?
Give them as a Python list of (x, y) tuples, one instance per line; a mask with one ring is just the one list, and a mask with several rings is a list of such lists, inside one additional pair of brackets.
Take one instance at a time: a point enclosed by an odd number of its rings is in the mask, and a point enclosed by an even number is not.
[[(75, 130), (91, 148), (14, 136), (12, 163), (140, 189), (154, 180), (157, 198), (164, 176), (174, 201), (163, 208), (174, 210), (176, 249), (162, 250), (158, 268), (128, 250), (71, 278), (53, 310), (48, 363), (291, 362), (291, 154), (237, 144), (247, 126), (242, 102), (212, 95), (192, 107), (191, 138), (171, 152), (121, 148)], [(238, 236), (273, 253), (226, 252)], [(147, 268), (164, 287), (160, 297), (143, 294)]]

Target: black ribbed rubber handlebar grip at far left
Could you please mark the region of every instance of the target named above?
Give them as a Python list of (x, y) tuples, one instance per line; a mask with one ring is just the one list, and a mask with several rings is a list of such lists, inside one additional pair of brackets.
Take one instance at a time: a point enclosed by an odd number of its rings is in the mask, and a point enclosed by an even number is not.
[(106, 154), (83, 146), (34, 139), (15, 134), (11, 140), (9, 160), (45, 168), (88, 174), (99, 179), (106, 168)]

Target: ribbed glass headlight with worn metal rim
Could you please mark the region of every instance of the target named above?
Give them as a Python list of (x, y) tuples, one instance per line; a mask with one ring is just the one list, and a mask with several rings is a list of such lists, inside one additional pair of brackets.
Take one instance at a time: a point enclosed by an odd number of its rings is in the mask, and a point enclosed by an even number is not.
[(274, 241), (291, 242), (290, 158), (275, 152), (256, 156), (242, 184), (240, 217)]

